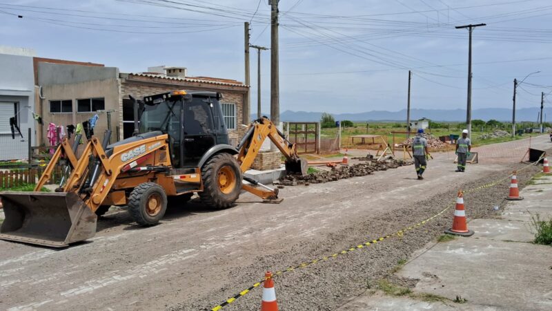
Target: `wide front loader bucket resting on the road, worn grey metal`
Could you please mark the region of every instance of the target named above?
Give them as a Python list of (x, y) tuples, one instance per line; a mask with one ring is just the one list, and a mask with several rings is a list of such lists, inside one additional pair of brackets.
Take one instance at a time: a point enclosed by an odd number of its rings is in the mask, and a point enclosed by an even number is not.
[(97, 216), (72, 192), (0, 192), (2, 240), (66, 247), (96, 234)]

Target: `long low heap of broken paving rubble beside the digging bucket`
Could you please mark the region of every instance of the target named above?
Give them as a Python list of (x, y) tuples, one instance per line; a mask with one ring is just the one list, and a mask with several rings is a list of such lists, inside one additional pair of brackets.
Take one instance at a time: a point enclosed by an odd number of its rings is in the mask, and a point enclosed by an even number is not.
[(318, 171), (317, 173), (308, 174), (307, 176), (288, 175), (279, 180), (279, 182), (275, 182), (275, 184), (284, 186), (308, 185), (308, 183), (319, 184), (356, 176), (366, 176), (374, 171), (386, 171), (387, 169), (396, 169), (397, 167), (410, 164), (412, 164), (412, 162), (394, 159), (380, 162), (376, 160), (366, 160), (366, 162), (351, 166), (341, 165), (339, 167), (332, 167), (331, 171)]

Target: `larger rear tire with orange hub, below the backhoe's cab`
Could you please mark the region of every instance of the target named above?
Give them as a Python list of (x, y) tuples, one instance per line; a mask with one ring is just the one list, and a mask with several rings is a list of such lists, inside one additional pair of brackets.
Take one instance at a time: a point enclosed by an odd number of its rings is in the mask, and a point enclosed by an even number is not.
[(204, 189), (201, 202), (208, 207), (225, 209), (234, 204), (242, 190), (242, 170), (229, 153), (218, 153), (201, 168)]

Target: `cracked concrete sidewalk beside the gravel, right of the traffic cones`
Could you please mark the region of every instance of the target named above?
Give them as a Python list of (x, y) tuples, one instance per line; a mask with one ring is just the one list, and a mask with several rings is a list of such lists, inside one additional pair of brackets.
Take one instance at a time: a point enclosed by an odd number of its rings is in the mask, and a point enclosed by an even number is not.
[(530, 213), (552, 217), (552, 176), (533, 180), (521, 196), (502, 215), (471, 221), (473, 236), (415, 254), (391, 278), (415, 283), (411, 294), (367, 293), (339, 310), (552, 310), (552, 247), (532, 244), (530, 227)]

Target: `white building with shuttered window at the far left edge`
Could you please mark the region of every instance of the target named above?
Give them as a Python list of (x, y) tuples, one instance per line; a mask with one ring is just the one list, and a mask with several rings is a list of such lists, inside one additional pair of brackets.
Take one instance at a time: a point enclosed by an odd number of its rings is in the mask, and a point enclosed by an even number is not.
[(32, 75), (35, 54), (28, 48), (0, 46), (0, 160), (28, 158), (29, 129), (30, 143), (35, 144)]

